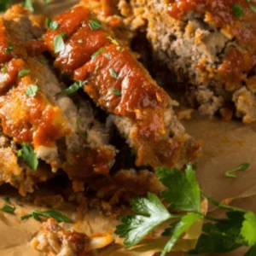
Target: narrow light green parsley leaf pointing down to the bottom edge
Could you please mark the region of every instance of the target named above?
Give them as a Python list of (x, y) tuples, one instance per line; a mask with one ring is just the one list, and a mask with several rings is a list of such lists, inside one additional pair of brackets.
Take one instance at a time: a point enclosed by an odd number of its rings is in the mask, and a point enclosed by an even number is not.
[(184, 215), (181, 220), (174, 226), (172, 230), (172, 238), (166, 243), (166, 247), (164, 247), (161, 256), (166, 255), (166, 253), (171, 252), (172, 247), (177, 242), (178, 238), (183, 235), (184, 232), (189, 230), (189, 228), (195, 224), (195, 222), (199, 219), (202, 219), (203, 216), (198, 213), (189, 212)]

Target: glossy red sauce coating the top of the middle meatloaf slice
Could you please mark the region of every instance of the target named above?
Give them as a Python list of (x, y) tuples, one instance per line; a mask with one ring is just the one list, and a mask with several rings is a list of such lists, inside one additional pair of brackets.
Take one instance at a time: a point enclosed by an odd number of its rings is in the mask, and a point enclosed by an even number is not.
[[(55, 66), (72, 74), (75, 80), (86, 80), (84, 90), (97, 105), (134, 120), (131, 139), (137, 148), (137, 166), (173, 166), (181, 143), (169, 137), (165, 123), (170, 97), (150, 79), (129, 50), (109, 38), (108, 32), (90, 29), (88, 23), (95, 20), (93, 16), (87, 15), (80, 27), (75, 22), (71, 29), (73, 15), (79, 15), (80, 9), (84, 8), (67, 12), (70, 16), (61, 25), (65, 27), (66, 22), (73, 33), (67, 38), (66, 49), (56, 55)], [(67, 13), (60, 17), (67, 17)], [(57, 22), (63, 20), (60, 17)], [(55, 35), (48, 30), (44, 36), (49, 49), (54, 48)]]

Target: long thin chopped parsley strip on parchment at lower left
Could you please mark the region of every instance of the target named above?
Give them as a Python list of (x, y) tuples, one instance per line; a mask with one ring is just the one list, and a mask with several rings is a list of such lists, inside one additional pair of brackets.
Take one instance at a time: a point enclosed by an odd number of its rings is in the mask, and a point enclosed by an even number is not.
[(41, 217), (44, 218), (55, 218), (57, 222), (71, 222), (67, 216), (61, 214), (61, 212), (56, 212), (55, 210), (49, 210), (49, 211), (32, 211), (31, 214), (23, 215), (20, 217), (21, 220), (25, 220), (27, 218), (35, 218), (36, 220), (40, 221), (42, 220)]

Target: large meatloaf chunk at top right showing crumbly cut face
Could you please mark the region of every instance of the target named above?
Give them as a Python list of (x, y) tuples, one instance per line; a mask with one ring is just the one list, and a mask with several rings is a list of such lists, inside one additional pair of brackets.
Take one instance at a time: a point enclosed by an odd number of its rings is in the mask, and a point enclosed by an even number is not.
[[(241, 5), (242, 15), (236, 15), (234, 4)], [(117, 7), (114, 2), (110, 5), (112, 9)], [(256, 120), (254, 106), (241, 112), (234, 95), (245, 88), (246, 100), (250, 101), (255, 92), (256, 15), (250, 5), (255, 6), (255, 1), (120, 0), (118, 3), (123, 24), (133, 31), (147, 32), (156, 60), (166, 63), (186, 84), (193, 107), (212, 117), (218, 112), (228, 113), (228, 105), (231, 113), (245, 123)]]

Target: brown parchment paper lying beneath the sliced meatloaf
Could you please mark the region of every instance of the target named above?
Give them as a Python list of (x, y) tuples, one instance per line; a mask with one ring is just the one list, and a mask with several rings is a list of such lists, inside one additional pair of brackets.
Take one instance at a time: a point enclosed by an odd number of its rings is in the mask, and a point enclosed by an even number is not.
[[(1, 0), (0, 0), (1, 1)], [(36, 11), (47, 15), (55, 15), (72, 7), (77, 0), (50, 1), (45, 7), (43, 0), (36, 1)], [(244, 207), (256, 212), (256, 125), (242, 125), (239, 122), (222, 122), (218, 119), (201, 119), (195, 117), (183, 123), (187, 131), (203, 144), (203, 154), (198, 160), (197, 177), (201, 188), (218, 201), (229, 199), (232, 205)], [(224, 172), (249, 162), (251, 166), (246, 172), (239, 172), (237, 178), (224, 177)], [(17, 208), (15, 214), (0, 211), (0, 255), (1, 256), (39, 256), (44, 255), (34, 250), (30, 241), (38, 234), (41, 224), (33, 218), (20, 221), (20, 215), (27, 214), (37, 207), (26, 202), (20, 202), (19, 195), (14, 189), (0, 188), (0, 207), (3, 207), (4, 196), (9, 196)], [(42, 209), (42, 208), (40, 208)], [(76, 209), (68, 203), (58, 209), (71, 219), (76, 218)], [(215, 216), (222, 216), (224, 212), (209, 210)], [(76, 226), (76, 230), (86, 234), (113, 230), (117, 220), (105, 217), (96, 211), (87, 212), (84, 222)], [(116, 240), (118, 241), (118, 239)], [(147, 251), (125, 249), (119, 244), (112, 244), (99, 251), (100, 256), (151, 256), (159, 255), (153, 249), (154, 241), (148, 241)], [(244, 248), (236, 252), (225, 253), (227, 256), (241, 256)], [(170, 253), (172, 256), (185, 256), (186, 253)]]

